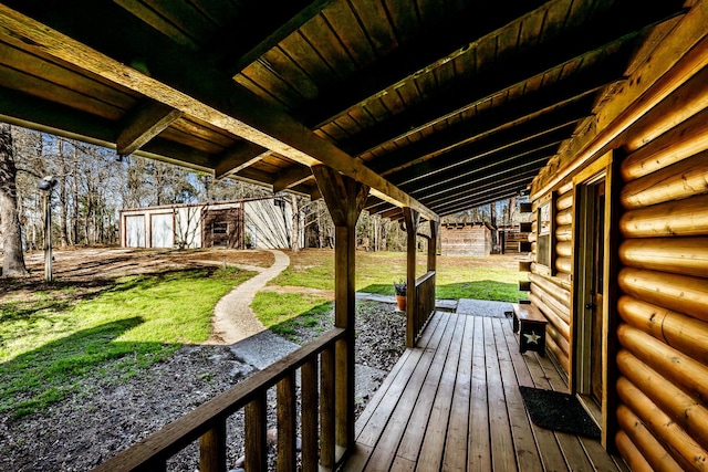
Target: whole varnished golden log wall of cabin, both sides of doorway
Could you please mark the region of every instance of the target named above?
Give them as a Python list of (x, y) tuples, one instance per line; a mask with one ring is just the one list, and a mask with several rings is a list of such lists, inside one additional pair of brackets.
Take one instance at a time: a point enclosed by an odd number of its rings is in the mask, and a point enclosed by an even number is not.
[(555, 228), (530, 298), (570, 371), (582, 279), (572, 186), (608, 169), (598, 417), (603, 445), (632, 470), (708, 470), (708, 2), (693, 6), (531, 187), (534, 210), (553, 192)]

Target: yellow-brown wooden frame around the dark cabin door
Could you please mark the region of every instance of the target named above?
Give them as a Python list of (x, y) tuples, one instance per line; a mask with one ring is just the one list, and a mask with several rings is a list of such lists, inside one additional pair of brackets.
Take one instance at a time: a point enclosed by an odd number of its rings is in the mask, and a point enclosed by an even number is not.
[[(617, 272), (618, 272), (618, 220), (620, 220), (620, 191), (621, 177), (617, 151), (611, 150), (573, 177), (573, 279), (571, 285), (572, 292), (572, 316), (571, 316), (571, 371), (569, 373), (569, 387), (572, 394), (576, 395), (585, 409), (591, 412), (595, 421), (602, 430), (601, 442), (605, 449), (613, 452), (615, 450), (613, 438), (618, 430), (616, 420), (616, 409), (618, 398), (615, 385), (618, 378), (618, 370), (614, 361), (618, 342), (616, 339), (616, 327), (618, 315), (616, 311), (616, 301), (618, 297)], [(602, 302), (602, 398), (600, 408), (593, 407), (593, 401), (582, 395), (585, 384), (581, 381), (579, 376), (583, 375), (582, 358), (586, 355), (584, 345), (579, 336), (582, 334), (583, 316), (585, 314), (587, 271), (583, 271), (584, 258), (587, 256), (585, 244), (583, 243), (583, 234), (585, 230), (585, 201), (587, 189), (601, 181), (605, 180), (605, 208), (604, 208), (604, 253), (603, 253), (603, 302)], [(586, 321), (587, 318), (585, 318)], [(589, 374), (589, 373), (585, 373)]]

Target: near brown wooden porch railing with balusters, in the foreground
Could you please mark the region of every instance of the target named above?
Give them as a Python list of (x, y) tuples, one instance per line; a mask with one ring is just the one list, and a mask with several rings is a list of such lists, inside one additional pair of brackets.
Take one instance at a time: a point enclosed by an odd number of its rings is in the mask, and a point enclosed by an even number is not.
[[(343, 328), (334, 328), (266, 369), (204, 403), (162, 430), (95, 468), (94, 472), (165, 471), (167, 460), (199, 440), (199, 471), (227, 471), (227, 419), (244, 409), (246, 470), (268, 469), (267, 394), (277, 390), (278, 470), (296, 468), (298, 398), (295, 376), (301, 374), (302, 469), (334, 469), (335, 346), (345, 343)], [(320, 364), (320, 369), (317, 365)], [(317, 378), (317, 371), (320, 376)]]

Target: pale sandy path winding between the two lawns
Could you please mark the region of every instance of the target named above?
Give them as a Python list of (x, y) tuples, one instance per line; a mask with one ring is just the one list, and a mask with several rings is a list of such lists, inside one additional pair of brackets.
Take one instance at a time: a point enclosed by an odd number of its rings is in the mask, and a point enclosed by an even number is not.
[(273, 265), (268, 269), (248, 266), (248, 270), (260, 273), (233, 289), (214, 308), (212, 332), (205, 344), (231, 345), (266, 329), (253, 314), (251, 302), (259, 290), (290, 265), (290, 258), (285, 253), (278, 250), (269, 252), (275, 256)]

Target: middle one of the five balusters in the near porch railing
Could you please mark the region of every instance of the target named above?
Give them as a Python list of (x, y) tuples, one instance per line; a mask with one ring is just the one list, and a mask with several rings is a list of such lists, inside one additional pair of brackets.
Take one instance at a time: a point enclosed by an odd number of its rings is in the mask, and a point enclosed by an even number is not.
[[(278, 472), (295, 471), (298, 441), (298, 397), (295, 392), (295, 374), (278, 382)], [(201, 471), (200, 471), (201, 472)]]

